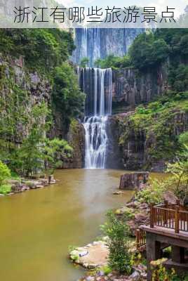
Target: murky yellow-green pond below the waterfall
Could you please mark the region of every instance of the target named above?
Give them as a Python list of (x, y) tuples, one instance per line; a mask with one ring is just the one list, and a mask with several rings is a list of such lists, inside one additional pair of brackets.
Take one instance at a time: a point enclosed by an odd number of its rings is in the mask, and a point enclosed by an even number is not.
[[(112, 195), (125, 171), (59, 170), (57, 184), (0, 197), (0, 280), (75, 281), (83, 269), (72, 265), (69, 245), (100, 235), (108, 209), (133, 194)], [(159, 174), (152, 174), (152, 177)]]

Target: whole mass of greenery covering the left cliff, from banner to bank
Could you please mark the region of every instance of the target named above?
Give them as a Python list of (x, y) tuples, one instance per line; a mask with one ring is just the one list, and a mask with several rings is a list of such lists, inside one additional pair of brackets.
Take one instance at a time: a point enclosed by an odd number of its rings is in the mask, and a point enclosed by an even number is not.
[[(60, 112), (62, 126), (81, 116), (85, 96), (79, 90), (74, 67), (66, 62), (74, 50), (72, 35), (58, 29), (25, 29), (0, 30), (0, 36), (0, 52), (7, 58), (0, 66), (0, 159), (23, 176), (42, 171), (44, 165), (46, 172), (53, 171), (62, 165), (60, 152), (69, 157), (72, 148), (64, 140), (46, 138), (52, 112), (44, 101), (32, 105), (26, 85), (31, 83), (31, 70), (38, 72), (46, 86), (51, 83), (52, 110)], [(15, 79), (15, 69), (6, 55), (25, 58), (23, 81)]]

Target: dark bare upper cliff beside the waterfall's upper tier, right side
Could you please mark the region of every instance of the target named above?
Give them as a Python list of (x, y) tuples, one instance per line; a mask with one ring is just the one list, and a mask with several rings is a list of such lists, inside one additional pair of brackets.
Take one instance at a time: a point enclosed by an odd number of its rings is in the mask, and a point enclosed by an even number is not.
[(140, 103), (148, 103), (155, 96), (160, 96), (168, 89), (167, 67), (141, 74), (134, 69), (113, 70), (114, 113), (125, 112)]

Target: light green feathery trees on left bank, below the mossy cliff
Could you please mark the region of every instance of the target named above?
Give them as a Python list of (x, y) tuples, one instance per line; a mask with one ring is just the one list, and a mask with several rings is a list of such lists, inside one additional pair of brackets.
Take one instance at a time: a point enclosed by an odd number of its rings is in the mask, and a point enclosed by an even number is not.
[(50, 114), (46, 103), (32, 107), (32, 125), (28, 136), (23, 138), (19, 146), (13, 145), (6, 155), (12, 171), (22, 176), (32, 176), (43, 171), (45, 167), (46, 173), (51, 174), (55, 168), (62, 165), (60, 154), (70, 157), (72, 148), (67, 141), (46, 138), (46, 131), (51, 126), (51, 119), (48, 119)]

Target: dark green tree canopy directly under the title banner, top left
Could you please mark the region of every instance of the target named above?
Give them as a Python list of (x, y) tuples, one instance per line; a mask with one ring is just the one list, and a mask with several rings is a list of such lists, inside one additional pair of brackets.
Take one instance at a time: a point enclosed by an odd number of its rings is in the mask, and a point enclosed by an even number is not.
[(74, 50), (72, 35), (58, 29), (0, 30), (0, 52), (25, 57), (27, 67), (49, 73)]

